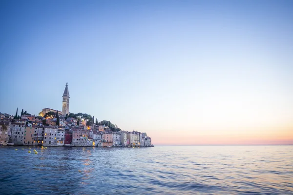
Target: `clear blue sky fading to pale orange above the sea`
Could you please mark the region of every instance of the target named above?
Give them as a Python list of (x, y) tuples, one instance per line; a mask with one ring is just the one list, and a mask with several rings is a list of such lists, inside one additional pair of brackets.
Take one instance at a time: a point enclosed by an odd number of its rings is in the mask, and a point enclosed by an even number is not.
[(291, 0), (1, 0), (0, 112), (62, 110), (157, 145), (293, 144)]

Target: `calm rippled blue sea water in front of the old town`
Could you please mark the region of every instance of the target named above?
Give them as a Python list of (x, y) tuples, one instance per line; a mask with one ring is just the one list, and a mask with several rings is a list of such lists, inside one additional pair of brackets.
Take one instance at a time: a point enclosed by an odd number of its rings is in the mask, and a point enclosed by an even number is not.
[(293, 146), (31, 148), (0, 147), (1, 195), (293, 194)]

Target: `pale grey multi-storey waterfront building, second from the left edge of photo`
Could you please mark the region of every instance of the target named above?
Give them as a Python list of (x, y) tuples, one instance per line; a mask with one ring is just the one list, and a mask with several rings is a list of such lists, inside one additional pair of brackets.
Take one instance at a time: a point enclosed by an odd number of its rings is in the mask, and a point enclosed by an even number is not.
[(24, 125), (20, 122), (12, 122), (10, 125), (10, 132), (8, 137), (11, 139), (15, 145), (23, 144), (23, 133), (24, 133)]

